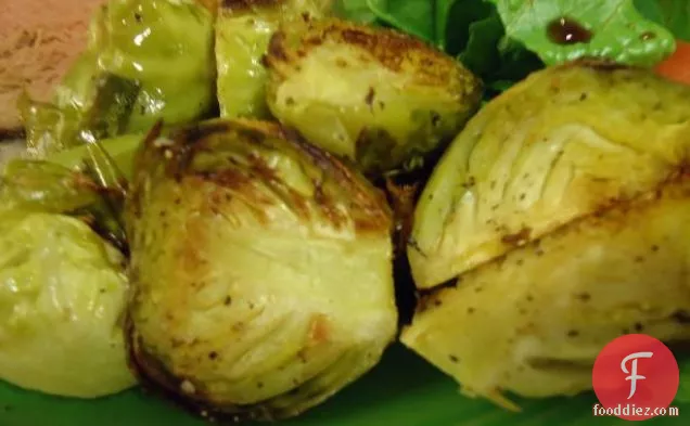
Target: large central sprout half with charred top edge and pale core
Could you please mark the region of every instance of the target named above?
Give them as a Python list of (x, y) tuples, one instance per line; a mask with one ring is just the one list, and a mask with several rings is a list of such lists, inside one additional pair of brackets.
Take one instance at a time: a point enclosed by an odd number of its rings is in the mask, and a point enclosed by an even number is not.
[(127, 207), (133, 367), (207, 416), (318, 404), (395, 338), (391, 222), (369, 182), (278, 125), (153, 133)]

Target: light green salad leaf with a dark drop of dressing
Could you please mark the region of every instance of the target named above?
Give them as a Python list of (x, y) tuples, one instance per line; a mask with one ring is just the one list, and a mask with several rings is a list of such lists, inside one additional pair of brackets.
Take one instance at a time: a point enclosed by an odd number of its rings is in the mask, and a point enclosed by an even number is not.
[(547, 64), (583, 56), (652, 66), (670, 55), (675, 38), (646, 18), (632, 0), (488, 0), (506, 34)]

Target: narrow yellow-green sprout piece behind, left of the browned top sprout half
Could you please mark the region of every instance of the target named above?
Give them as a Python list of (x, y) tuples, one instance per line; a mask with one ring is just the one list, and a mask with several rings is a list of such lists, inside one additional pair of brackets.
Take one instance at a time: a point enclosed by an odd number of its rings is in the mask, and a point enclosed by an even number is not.
[(220, 116), (268, 118), (263, 57), (283, 22), (330, 12), (331, 0), (278, 0), (221, 3), (216, 22), (216, 62)]

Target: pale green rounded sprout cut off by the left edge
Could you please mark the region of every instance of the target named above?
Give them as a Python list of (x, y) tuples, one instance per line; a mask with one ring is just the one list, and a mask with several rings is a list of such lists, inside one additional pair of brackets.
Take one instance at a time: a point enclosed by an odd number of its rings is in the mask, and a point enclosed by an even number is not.
[(0, 379), (78, 398), (135, 385), (120, 324), (124, 258), (84, 222), (0, 211)]

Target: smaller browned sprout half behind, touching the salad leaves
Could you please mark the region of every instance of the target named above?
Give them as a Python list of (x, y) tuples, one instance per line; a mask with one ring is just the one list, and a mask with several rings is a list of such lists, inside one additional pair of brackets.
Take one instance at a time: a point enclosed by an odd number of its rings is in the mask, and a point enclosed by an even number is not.
[(419, 164), (482, 94), (477, 78), (424, 42), (337, 20), (282, 26), (266, 64), (272, 114), (368, 173)]

